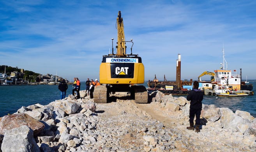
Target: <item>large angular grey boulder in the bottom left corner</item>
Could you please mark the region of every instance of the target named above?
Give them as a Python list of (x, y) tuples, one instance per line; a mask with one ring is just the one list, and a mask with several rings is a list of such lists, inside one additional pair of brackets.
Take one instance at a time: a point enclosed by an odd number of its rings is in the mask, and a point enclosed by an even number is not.
[(33, 131), (26, 125), (5, 132), (2, 152), (40, 152)]

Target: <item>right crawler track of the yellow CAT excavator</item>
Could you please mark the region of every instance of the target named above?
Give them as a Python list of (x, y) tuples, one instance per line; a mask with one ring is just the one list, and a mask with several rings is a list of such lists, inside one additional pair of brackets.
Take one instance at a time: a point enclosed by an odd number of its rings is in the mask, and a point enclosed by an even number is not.
[(145, 86), (132, 86), (136, 103), (148, 103), (148, 92)]

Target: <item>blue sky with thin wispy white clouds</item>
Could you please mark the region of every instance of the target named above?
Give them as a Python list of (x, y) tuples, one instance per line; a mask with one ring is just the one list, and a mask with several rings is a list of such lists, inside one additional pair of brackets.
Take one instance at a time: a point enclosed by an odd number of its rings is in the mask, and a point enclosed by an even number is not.
[(243, 79), (256, 79), (255, 8), (254, 0), (1, 0), (0, 65), (71, 80), (99, 78), (102, 56), (111, 38), (117, 41), (120, 10), (145, 81), (155, 74), (175, 80), (178, 54), (181, 79), (196, 80), (221, 67), (223, 45), (228, 69), (242, 68)]

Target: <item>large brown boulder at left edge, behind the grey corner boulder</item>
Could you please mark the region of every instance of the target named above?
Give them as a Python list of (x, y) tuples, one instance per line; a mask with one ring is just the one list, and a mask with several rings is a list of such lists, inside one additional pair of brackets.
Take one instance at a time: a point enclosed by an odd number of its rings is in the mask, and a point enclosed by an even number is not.
[(0, 121), (0, 134), (4, 135), (6, 131), (18, 128), (23, 125), (31, 128), (35, 135), (44, 129), (43, 123), (37, 121), (28, 114), (12, 114), (4, 116)]

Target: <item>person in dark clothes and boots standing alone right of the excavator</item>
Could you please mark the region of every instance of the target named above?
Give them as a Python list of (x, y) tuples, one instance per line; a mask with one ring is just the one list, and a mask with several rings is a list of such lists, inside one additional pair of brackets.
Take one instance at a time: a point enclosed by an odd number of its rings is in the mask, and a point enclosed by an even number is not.
[(194, 117), (196, 115), (196, 132), (200, 132), (200, 115), (202, 110), (202, 100), (203, 100), (203, 92), (198, 90), (199, 83), (198, 81), (194, 81), (193, 90), (189, 92), (187, 95), (187, 100), (190, 101), (190, 109), (189, 109), (189, 123), (190, 126), (187, 127), (189, 130), (194, 130)]

